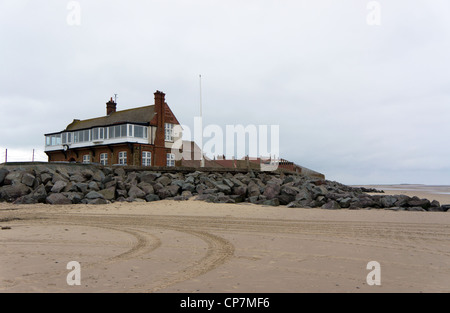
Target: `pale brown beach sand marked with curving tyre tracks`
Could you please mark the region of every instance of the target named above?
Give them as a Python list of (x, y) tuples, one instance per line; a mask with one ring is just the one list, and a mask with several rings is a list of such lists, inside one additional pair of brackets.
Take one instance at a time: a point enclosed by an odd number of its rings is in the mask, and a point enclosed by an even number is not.
[[(450, 204), (448, 187), (373, 187)], [(450, 212), (0, 203), (0, 226), (0, 292), (450, 292)]]

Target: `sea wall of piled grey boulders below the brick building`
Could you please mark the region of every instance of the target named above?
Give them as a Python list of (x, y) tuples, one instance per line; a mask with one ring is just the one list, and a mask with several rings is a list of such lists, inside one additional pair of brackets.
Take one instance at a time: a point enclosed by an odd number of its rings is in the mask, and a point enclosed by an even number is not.
[(376, 195), (289, 172), (245, 169), (102, 167), (89, 164), (0, 165), (0, 201), (15, 204), (107, 204), (196, 199), (214, 203), (323, 209), (447, 211), (448, 205), (405, 195)]

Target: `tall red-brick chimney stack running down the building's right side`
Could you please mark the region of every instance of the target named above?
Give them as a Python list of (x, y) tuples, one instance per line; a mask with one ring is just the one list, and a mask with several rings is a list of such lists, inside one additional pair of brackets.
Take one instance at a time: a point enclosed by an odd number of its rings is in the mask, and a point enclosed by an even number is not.
[(155, 155), (154, 155), (154, 165), (155, 166), (166, 166), (167, 165), (167, 155), (165, 149), (165, 94), (159, 90), (155, 93), (155, 113), (156, 113), (156, 134), (155, 134)]

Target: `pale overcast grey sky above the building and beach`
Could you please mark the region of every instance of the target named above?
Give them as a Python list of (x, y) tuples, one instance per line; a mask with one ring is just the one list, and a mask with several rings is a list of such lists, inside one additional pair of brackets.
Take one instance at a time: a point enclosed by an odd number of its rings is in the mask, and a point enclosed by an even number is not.
[(45, 133), (160, 90), (192, 129), (200, 99), (204, 126), (278, 125), (280, 156), (329, 180), (450, 185), (449, 15), (448, 0), (0, 0), (0, 162), (46, 160)]

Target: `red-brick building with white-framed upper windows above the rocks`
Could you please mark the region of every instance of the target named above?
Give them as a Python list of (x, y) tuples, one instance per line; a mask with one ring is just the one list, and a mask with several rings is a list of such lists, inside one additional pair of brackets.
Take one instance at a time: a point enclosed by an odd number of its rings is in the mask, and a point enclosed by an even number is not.
[(165, 94), (154, 93), (154, 105), (116, 111), (112, 100), (106, 115), (73, 120), (66, 129), (45, 134), (49, 162), (83, 162), (103, 165), (175, 166), (173, 144), (181, 127)]

